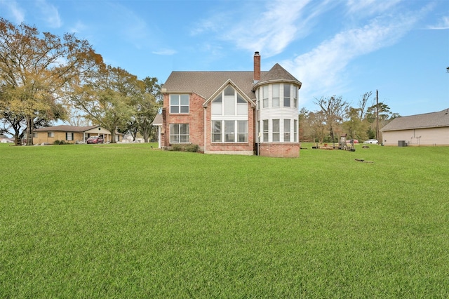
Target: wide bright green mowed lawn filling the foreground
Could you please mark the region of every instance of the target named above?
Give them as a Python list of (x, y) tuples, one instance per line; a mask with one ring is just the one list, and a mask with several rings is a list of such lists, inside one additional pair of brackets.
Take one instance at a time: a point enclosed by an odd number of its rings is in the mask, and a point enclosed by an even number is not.
[(0, 145), (0, 298), (448, 298), (449, 147), (302, 146)]

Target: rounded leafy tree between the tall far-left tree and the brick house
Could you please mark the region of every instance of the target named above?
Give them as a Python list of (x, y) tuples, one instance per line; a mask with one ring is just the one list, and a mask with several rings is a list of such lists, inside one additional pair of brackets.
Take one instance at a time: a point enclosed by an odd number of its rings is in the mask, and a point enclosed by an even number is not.
[(116, 131), (135, 116), (135, 105), (144, 96), (142, 81), (125, 69), (108, 65), (92, 73), (83, 86), (74, 86), (71, 100), (86, 113), (86, 119), (109, 130), (115, 142)]

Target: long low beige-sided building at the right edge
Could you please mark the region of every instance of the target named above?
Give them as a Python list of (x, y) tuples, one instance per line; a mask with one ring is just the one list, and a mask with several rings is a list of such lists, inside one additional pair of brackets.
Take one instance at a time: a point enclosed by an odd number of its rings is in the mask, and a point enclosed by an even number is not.
[(398, 117), (380, 131), (383, 145), (449, 145), (449, 109)]

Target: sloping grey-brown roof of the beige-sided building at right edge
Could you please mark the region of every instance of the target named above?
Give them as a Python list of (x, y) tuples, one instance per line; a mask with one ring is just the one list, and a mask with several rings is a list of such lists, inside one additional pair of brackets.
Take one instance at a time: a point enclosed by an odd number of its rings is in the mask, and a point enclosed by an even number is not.
[(398, 117), (393, 119), (380, 131), (410, 130), (413, 128), (438, 128), (449, 126), (449, 109), (440, 112), (431, 112), (409, 117)]

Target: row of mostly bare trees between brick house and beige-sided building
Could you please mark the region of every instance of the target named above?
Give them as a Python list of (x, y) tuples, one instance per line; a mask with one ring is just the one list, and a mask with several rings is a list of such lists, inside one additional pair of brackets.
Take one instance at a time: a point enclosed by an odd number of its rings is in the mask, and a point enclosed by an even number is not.
[(367, 140), (377, 138), (380, 143), (380, 128), (392, 119), (400, 117), (390, 111), (383, 102), (375, 102), (373, 92), (361, 95), (356, 107), (335, 95), (316, 98), (319, 110), (310, 112), (300, 109), (300, 140), (302, 142), (338, 142), (340, 136), (347, 139)]

